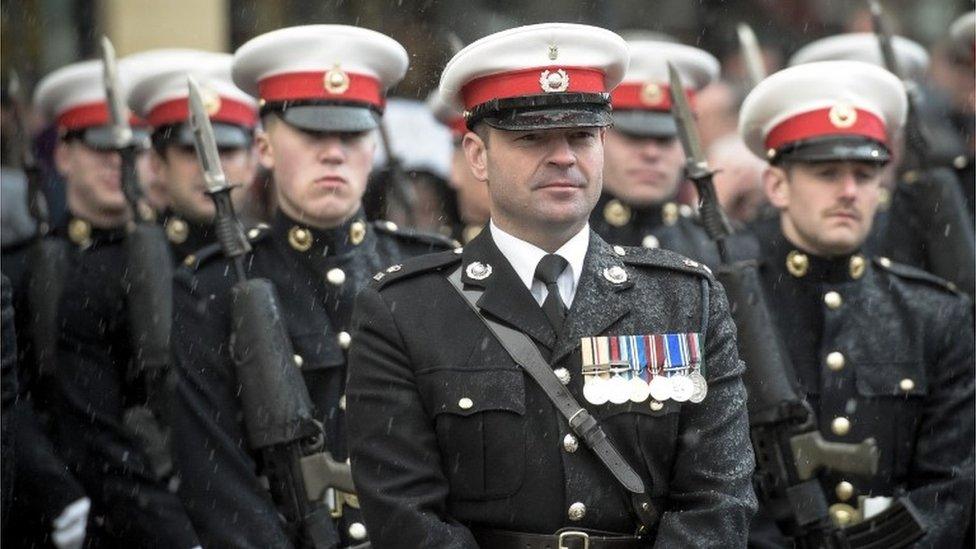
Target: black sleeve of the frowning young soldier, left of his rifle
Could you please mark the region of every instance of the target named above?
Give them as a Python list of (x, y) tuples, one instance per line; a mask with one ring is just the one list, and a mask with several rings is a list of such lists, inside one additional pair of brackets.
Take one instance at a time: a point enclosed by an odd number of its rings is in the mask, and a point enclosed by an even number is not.
[(230, 283), (173, 291), (175, 383), (166, 422), (180, 499), (205, 547), (288, 547), (247, 449), (228, 352)]

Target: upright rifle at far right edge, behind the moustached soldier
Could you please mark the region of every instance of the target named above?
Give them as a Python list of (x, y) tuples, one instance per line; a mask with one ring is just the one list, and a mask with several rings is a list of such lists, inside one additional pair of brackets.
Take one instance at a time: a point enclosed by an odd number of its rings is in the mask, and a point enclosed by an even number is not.
[[(905, 158), (896, 197), (903, 195), (897, 208), (907, 215), (892, 215), (885, 229), (885, 244), (914, 242), (922, 235), (926, 270), (953, 282), (970, 296), (976, 295), (976, 236), (965, 209), (965, 199), (957, 176), (948, 166), (933, 158), (928, 132), (919, 115), (918, 86), (904, 78), (892, 47), (891, 33), (882, 19), (877, 0), (869, 0), (871, 22), (878, 38), (885, 68), (905, 84), (908, 117), (905, 121)], [(912, 215), (915, 214), (915, 215)], [(905, 250), (892, 247), (887, 255), (897, 261), (917, 264)]]

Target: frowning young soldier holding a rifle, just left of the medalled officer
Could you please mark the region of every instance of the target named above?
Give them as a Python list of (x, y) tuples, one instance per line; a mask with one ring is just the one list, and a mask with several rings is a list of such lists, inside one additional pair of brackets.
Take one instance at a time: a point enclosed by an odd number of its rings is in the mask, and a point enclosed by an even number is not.
[[(436, 235), (367, 222), (362, 211), (384, 94), (406, 69), (407, 53), (396, 41), (345, 25), (277, 30), (241, 46), (234, 59), (234, 82), (260, 98), (259, 159), (273, 173), (279, 205), (270, 227), (249, 232), (247, 276), (274, 284), (295, 366), (340, 461), (353, 297), (377, 270), (451, 247)], [(228, 351), (234, 276), (217, 250), (196, 254), (177, 272), (178, 380), (168, 423), (179, 495), (204, 545), (281, 547), (291, 542), (289, 528), (245, 442)], [(355, 496), (336, 492), (329, 504), (343, 543), (362, 543)]]

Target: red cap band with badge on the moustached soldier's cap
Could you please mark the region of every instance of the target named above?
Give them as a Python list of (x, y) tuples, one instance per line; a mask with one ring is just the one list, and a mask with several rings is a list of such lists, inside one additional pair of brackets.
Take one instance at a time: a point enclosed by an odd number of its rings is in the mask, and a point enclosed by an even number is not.
[(766, 148), (779, 149), (787, 143), (825, 135), (860, 135), (885, 145), (884, 121), (874, 113), (834, 106), (798, 114), (780, 122), (766, 135)]

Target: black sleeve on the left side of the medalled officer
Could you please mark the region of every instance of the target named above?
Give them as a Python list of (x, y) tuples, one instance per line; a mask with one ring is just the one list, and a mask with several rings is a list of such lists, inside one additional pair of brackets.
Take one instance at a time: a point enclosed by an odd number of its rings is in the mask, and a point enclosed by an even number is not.
[(436, 435), (390, 307), (372, 288), (356, 303), (346, 387), (353, 479), (374, 547), (477, 547), (447, 512)]

